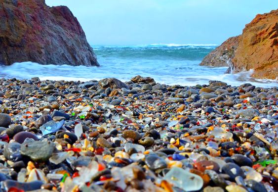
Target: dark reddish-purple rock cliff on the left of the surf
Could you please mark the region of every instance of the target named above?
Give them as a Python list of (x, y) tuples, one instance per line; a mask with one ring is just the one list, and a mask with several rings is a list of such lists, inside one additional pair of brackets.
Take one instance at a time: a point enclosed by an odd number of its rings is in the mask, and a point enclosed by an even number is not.
[(99, 65), (78, 20), (44, 0), (0, 0), (0, 63)]

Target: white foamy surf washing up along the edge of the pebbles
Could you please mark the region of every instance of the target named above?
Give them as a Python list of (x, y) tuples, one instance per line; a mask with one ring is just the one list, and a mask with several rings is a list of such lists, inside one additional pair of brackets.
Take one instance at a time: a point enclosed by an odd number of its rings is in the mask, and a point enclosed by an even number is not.
[[(188, 61), (190, 63), (190, 61)], [(125, 70), (123, 70), (123, 68)], [(103, 78), (115, 77), (121, 81), (129, 81), (136, 75), (151, 76), (157, 82), (167, 85), (195, 86), (197, 84), (208, 84), (209, 80), (219, 80), (232, 86), (240, 86), (243, 83), (264, 88), (278, 86), (278, 80), (262, 80), (251, 77), (252, 71), (240, 72), (238, 74), (223, 74), (226, 67), (209, 68), (196, 66), (194, 72), (183, 72), (173, 69), (172, 72), (155, 70), (156, 67), (149, 67), (147, 71), (136, 66), (70, 66), (70, 65), (40, 65), (33, 62), (14, 63), (11, 66), (0, 65), (0, 77), (31, 79), (39, 77), (40, 80), (66, 80), (81, 81), (100, 80)], [(153, 70), (153, 71), (152, 71)], [(205, 71), (200, 75), (201, 71)], [(171, 73), (173, 75), (171, 75)]]

